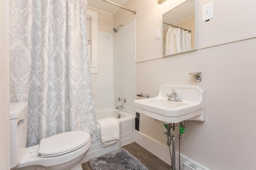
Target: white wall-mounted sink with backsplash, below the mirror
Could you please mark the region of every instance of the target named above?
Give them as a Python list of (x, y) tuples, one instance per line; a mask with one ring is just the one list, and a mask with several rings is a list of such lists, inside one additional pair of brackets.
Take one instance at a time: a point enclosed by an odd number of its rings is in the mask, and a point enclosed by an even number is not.
[[(174, 88), (182, 102), (167, 100), (171, 88)], [(204, 121), (204, 91), (199, 86), (162, 85), (156, 98), (135, 100), (134, 109), (164, 124), (184, 120)]]

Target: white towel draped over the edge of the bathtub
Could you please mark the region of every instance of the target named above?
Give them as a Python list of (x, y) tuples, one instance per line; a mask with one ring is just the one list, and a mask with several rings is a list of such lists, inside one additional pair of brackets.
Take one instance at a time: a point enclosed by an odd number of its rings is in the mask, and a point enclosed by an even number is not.
[(116, 118), (109, 117), (97, 121), (100, 125), (102, 147), (112, 145), (119, 139), (119, 123)]

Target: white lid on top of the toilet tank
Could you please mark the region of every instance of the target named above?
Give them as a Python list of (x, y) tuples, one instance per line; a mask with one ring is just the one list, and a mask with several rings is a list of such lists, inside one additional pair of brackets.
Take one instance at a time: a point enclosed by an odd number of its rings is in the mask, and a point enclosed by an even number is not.
[(28, 102), (10, 103), (10, 119), (17, 119), (28, 111)]

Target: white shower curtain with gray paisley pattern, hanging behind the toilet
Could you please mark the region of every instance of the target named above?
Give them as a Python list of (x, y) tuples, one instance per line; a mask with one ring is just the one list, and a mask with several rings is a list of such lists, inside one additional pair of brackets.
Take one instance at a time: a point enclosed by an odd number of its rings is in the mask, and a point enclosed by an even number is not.
[(10, 102), (28, 102), (27, 147), (65, 131), (98, 139), (87, 0), (10, 0)]

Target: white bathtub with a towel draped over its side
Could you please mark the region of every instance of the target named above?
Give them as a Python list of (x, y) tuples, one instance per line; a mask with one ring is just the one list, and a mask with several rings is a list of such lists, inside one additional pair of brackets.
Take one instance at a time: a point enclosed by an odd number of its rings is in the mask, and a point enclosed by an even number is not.
[(114, 150), (117, 150), (124, 145), (134, 142), (135, 117), (133, 115), (124, 113), (122, 111), (118, 111), (117, 109), (97, 110), (95, 111), (95, 114), (96, 120), (105, 119), (108, 117), (117, 118), (118, 114), (120, 114), (121, 117), (117, 119), (119, 122), (120, 137), (117, 143), (109, 145), (107, 147), (102, 147), (100, 138), (100, 125), (97, 123), (99, 140), (92, 143), (86, 156), (81, 161), (82, 163), (87, 162), (88, 160), (96, 158), (98, 156), (102, 156), (106, 153), (112, 152)]

